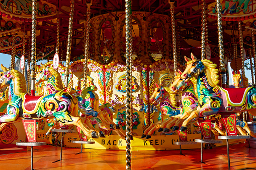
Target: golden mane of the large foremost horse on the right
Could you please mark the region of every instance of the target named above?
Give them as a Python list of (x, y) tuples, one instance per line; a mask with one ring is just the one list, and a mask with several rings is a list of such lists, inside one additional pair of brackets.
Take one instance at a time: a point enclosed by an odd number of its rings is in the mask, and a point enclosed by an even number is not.
[(215, 86), (219, 84), (219, 70), (216, 69), (217, 65), (214, 64), (211, 60), (201, 60), (204, 64), (204, 66), (210, 71), (211, 73), (211, 79)]

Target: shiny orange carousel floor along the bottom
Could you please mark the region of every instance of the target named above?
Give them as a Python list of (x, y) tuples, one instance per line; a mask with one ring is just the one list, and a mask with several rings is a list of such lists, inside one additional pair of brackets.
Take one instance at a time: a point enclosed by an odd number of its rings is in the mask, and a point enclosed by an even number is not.
[[(231, 169), (256, 168), (256, 144), (251, 148), (244, 143), (230, 146)], [(60, 147), (45, 145), (34, 147), (34, 169), (125, 169), (125, 150), (100, 150), (65, 147), (62, 161), (59, 159)], [(132, 151), (132, 169), (227, 169), (226, 147), (204, 149), (204, 162), (200, 162), (200, 149), (164, 151)], [(31, 152), (26, 148), (0, 149), (0, 169), (30, 169)]]

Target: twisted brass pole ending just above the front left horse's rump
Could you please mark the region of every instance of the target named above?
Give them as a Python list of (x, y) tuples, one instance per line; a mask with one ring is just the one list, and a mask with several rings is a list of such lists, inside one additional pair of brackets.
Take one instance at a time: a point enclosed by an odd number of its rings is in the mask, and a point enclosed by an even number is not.
[(67, 56), (66, 56), (66, 67), (65, 67), (65, 86), (66, 87), (68, 86), (68, 76), (69, 76), (69, 63), (70, 63), (70, 53), (71, 53), (73, 15), (74, 15), (74, 0), (71, 0), (71, 2), (70, 2), (69, 23), (68, 23)]

